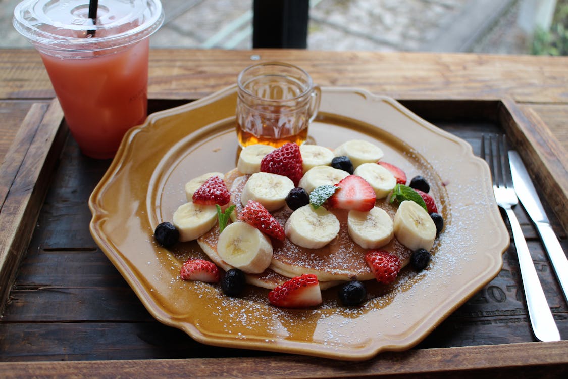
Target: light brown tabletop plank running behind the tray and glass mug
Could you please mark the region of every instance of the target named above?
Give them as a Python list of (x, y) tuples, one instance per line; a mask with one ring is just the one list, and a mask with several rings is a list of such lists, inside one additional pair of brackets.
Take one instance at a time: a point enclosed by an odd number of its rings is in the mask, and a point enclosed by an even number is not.
[[(240, 70), (259, 60), (297, 64), (321, 86), (364, 88), (398, 99), (507, 95), (517, 102), (568, 102), (568, 57), (294, 49), (153, 49), (148, 94), (150, 98), (201, 98), (235, 84)], [(0, 51), (0, 77), (0, 98), (53, 97), (35, 51)]]

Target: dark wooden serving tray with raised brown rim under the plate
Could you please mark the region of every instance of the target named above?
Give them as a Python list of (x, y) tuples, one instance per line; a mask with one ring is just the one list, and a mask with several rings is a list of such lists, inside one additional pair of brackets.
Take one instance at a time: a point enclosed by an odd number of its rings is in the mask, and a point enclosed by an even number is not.
[[(566, 250), (568, 175), (556, 140), (536, 114), (500, 101), (401, 101), (456, 134), (479, 153), (483, 133), (504, 132), (542, 184), (542, 199)], [(151, 111), (181, 101), (153, 100)], [(533, 115), (533, 116), (531, 116)], [(59, 104), (38, 103), (24, 120), (2, 167), (0, 251), (3, 317), (0, 376), (372, 377), (417, 374), (560, 377), (568, 341), (536, 342), (520, 289), (514, 247), (502, 272), (415, 348), (360, 363), (335, 362), (199, 344), (163, 326), (141, 305), (89, 234), (87, 199), (110, 161), (82, 156), (67, 135)], [(551, 153), (552, 151), (552, 153)], [(44, 200), (45, 199), (45, 200)], [(551, 207), (546, 199), (555, 199)], [(522, 207), (515, 208), (562, 338), (568, 308), (548, 258)], [(557, 218), (554, 218), (556, 211)], [(68, 362), (57, 362), (65, 360)], [(544, 369), (544, 370), (543, 370)]]

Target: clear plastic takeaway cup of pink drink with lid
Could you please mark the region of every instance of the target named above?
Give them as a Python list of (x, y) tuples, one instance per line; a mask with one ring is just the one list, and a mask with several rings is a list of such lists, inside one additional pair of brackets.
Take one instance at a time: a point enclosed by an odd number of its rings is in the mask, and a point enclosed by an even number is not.
[[(92, 14), (91, 14), (92, 15)], [(37, 51), (81, 151), (114, 156), (147, 116), (149, 36), (162, 24), (160, 0), (24, 0), (14, 27)]]

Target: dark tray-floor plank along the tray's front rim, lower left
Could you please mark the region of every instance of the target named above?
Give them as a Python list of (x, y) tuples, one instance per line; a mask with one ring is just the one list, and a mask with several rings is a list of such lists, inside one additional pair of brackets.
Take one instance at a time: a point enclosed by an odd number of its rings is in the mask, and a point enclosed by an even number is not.
[[(69, 338), (73, 336), (73, 338)], [(40, 340), (41, 343), (37, 343)], [(9, 343), (6, 343), (9, 341)], [(153, 320), (0, 325), (2, 361), (127, 360), (278, 355), (203, 345)], [(0, 377), (3, 377), (0, 369)], [(191, 376), (190, 376), (191, 377)]]

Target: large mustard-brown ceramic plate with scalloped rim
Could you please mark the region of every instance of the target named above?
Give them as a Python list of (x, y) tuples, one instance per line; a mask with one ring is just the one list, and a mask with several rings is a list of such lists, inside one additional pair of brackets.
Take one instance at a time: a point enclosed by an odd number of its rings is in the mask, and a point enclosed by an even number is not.
[(268, 290), (228, 298), (218, 285), (179, 280), (183, 261), (203, 253), (197, 243), (161, 248), (153, 230), (185, 202), (186, 181), (236, 166), (235, 105), (228, 88), (150, 115), (128, 132), (89, 200), (93, 238), (160, 322), (206, 344), (362, 360), (412, 347), (498, 274), (509, 235), (470, 145), (391, 98), (328, 88), (311, 143), (367, 139), (409, 178), (429, 178), (446, 226), (428, 269), (405, 268), (361, 307), (340, 306), (332, 288), (323, 305), (297, 310), (270, 306)]

